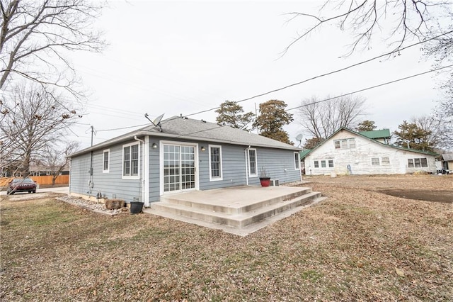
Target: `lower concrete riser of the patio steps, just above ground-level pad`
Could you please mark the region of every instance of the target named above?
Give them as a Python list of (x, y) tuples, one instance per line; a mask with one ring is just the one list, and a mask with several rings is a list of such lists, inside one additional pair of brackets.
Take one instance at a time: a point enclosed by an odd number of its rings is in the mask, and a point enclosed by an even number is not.
[[(284, 205), (277, 207), (277, 208), (270, 208), (268, 211), (260, 211), (256, 215), (250, 213), (251, 216), (245, 219), (236, 218), (235, 216), (231, 217), (219, 217), (215, 216), (214, 213), (199, 213), (195, 211), (191, 211), (190, 208), (174, 208), (171, 203), (159, 203), (154, 204), (153, 208), (156, 211), (163, 211), (166, 213), (171, 213), (173, 215), (178, 216), (185, 216), (189, 218), (194, 218), (197, 220), (203, 220), (210, 223), (219, 223), (223, 225), (229, 225), (234, 228), (242, 228), (246, 225), (251, 225), (253, 223), (258, 223), (265, 218), (269, 218), (275, 215), (278, 215), (284, 211), (290, 210), (297, 206), (305, 206), (306, 204), (311, 203), (314, 199), (321, 197), (321, 193), (316, 192), (315, 194), (310, 194), (309, 196), (295, 198), (290, 203), (285, 203)], [(174, 204), (174, 203), (173, 203)], [(275, 203), (274, 203), (275, 204)], [(273, 206), (269, 205), (270, 206)], [(180, 205), (179, 205), (180, 206)], [(264, 208), (263, 208), (264, 209)]]

